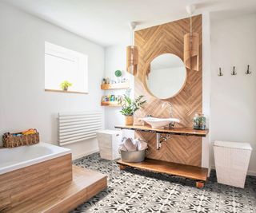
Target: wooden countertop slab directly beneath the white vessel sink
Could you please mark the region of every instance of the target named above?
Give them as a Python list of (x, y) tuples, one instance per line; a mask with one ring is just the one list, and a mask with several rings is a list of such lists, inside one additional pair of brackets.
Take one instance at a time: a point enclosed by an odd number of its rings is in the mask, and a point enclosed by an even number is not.
[(205, 137), (209, 130), (198, 130), (194, 128), (151, 128), (150, 125), (123, 125), (114, 128), (130, 129), (141, 132), (166, 133), (181, 136), (202, 136)]

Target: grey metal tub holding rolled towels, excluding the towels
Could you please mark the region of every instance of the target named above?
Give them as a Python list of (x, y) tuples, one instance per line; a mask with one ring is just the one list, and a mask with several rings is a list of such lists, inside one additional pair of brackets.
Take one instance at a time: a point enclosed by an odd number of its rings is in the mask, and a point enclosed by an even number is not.
[(147, 149), (134, 152), (119, 150), (119, 152), (121, 154), (121, 159), (123, 162), (138, 163), (145, 160)]

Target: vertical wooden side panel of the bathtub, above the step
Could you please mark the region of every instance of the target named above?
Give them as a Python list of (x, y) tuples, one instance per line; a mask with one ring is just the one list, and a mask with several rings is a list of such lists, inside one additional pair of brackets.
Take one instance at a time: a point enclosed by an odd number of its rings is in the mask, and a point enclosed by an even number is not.
[(71, 154), (0, 175), (0, 211), (72, 180)]

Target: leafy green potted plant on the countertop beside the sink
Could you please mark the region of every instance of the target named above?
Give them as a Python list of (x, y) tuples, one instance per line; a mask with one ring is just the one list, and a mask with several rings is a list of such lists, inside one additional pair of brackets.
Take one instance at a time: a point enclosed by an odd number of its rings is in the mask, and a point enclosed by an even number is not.
[(130, 97), (124, 95), (122, 100), (119, 101), (119, 104), (122, 106), (120, 111), (123, 116), (125, 116), (126, 125), (134, 124), (134, 112), (146, 104), (146, 101), (143, 101), (144, 96), (139, 96), (132, 100)]

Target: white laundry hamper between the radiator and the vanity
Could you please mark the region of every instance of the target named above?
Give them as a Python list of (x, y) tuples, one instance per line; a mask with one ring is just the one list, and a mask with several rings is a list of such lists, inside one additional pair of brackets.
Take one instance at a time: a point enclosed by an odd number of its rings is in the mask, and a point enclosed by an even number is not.
[(122, 143), (122, 131), (108, 129), (99, 131), (97, 140), (102, 159), (116, 160), (120, 158), (118, 147)]

